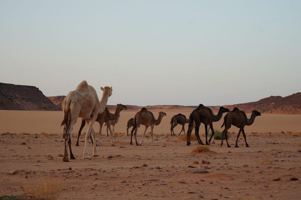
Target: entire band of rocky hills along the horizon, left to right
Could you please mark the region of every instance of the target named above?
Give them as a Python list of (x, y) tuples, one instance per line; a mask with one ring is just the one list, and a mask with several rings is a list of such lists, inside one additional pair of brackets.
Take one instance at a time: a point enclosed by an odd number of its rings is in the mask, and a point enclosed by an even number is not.
[[(62, 101), (66, 96), (46, 97), (39, 88), (27, 85), (14, 85), (0, 83), (0, 109), (1, 110), (44, 110), (61, 111)], [(122, 102), (120, 102), (122, 103)], [(202, 102), (199, 102), (202, 103)], [(116, 105), (107, 105), (109, 110), (115, 110)], [(127, 110), (138, 111), (142, 107), (147, 110), (181, 110), (196, 109), (196, 106), (180, 105), (155, 105), (155, 106), (134, 106), (126, 105)], [(213, 110), (218, 110), (219, 106), (208, 106)], [(257, 110), (261, 113), (270, 114), (292, 114), (301, 115), (301, 92), (289, 95), (287, 97), (271, 96), (256, 102), (240, 103), (234, 105), (225, 105), (225, 108), (232, 110), (238, 107), (240, 110), (251, 113)]]

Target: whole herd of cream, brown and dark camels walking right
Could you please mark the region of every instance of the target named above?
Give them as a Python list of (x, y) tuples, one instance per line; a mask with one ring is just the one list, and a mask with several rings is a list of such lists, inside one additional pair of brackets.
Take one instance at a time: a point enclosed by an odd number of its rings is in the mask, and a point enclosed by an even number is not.
[[(101, 146), (101, 141), (100, 141), (100, 136), (101, 136), (101, 130), (102, 126), (105, 123), (107, 125), (107, 136), (108, 136), (108, 130), (110, 131), (110, 136), (111, 136), (111, 145), (115, 145), (113, 141), (113, 133), (114, 133), (114, 127), (116, 123), (118, 123), (119, 120), (119, 113), (122, 110), (126, 110), (126, 106), (122, 104), (117, 104), (116, 111), (114, 114), (110, 113), (108, 108), (107, 108), (107, 102), (108, 98), (112, 95), (112, 87), (101, 87), (101, 90), (103, 91), (103, 95), (101, 100), (99, 101), (98, 96), (96, 94), (95, 89), (91, 86), (88, 85), (86, 81), (82, 81), (74, 91), (70, 91), (69, 94), (65, 97), (65, 99), (62, 102), (62, 107), (64, 111), (64, 120), (61, 123), (61, 126), (64, 125), (64, 158), (63, 161), (69, 162), (69, 157), (68, 157), (68, 147), (70, 150), (70, 159), (75, 159), (74, 155), (72, 154), (71, 150), (71, 139), (70, 139), (70, 134), (73, 130), (73, 125), (76, 123), (77, 119), (80, 117), (82, 118), (82, 124), (79, 129), (79, 134), (78, 138), (76, 141), (76, 146), (79, 146), (79, 136), (81, 134), (81, 131), (85, 124), (88, 124), (88, 130), (87, 134), (85, 135), (85, 148), (84, 148), (84, 153), (83, 153), (83, 158), (91, 158), (88, 155), (88, 140), (89, 138), (92, 141), (93, 144), (93, 157), (99, 156), (98, 151), (97, 151), (97, 144), (96, 144), (96, 133), (93, 129), (93, 124), (95, 121), (97, 121), (100, 125), (99, 128), (99, 137), (98, 137), (98, 146)], [(194, 129), (195, 130), (195, 135), (197, 137), (197, 141), (199, 144), (204, 145), (204, 143), (201, 141), (200, 136), (199, 136), (199, 128), (200, 124), (203, 123), (205, 125), (205, 135), (206, 135), (206, 145), (210, 145), (211, 139), (213, 139), (214, 135), (214, 129), (213, 129), (213, 122), (219, 121), (222, 118), (222, 114), (224, 112), (227, 112), (227, 114), (224, 117), (224, 123), (222, 125), (225, 126), (225, 129), (222, 131), (222, 142), (220, 144), (220, 147), (223, 145), (223, 137), (227, 134), (228, 129), (231, 127), (231, 125), (236, 126), (239, 128), (239, 132), (237, 134), (237, 139), (235, 143), (235, 147), (238, 147), (237, 145), (237, 140), (240, 135), (240, 132), (243, 133), (244, 140), (246, 142), (246, 147), (249, 147), (247, 144), (246, 140), (246, 134), (244, 132), (244, 127), (250, 126), (253, 124), (254, 119), (256, 116), (261, 115), (260, 112), (254, 110), (252, 111), (251, 118), (248, 119), (247, 115), (239, 110), (238, 108), (234, 108), (232, 111), (230, 111), (227, 108), (220, 107), (219, 112), (217, 115), (214, 115), (212, 110), (203, 104), (200, 104), (197, 109), (194, 109), (190, 116), (189, 119), (186, 118), (185, 115), (182, 115), (181, 113), (178, 115), (174, 115), (171, 118), (171, 128), (170, 128), (170, 133), (171, 136), (175, 135), (173, 129), (175, 126), (178, 124), (182, 125), (182, 130), (178, 134), (178, 136), (184, 131), (185, 134), (185, 129), (184, 126), (186, 123), (188, 123), (188, 131), (187, 131), (187, 145), (190, 145), (190, 137), (191, 137), (191, 132)], [(142, 145), (144, 136), (146, 134), (147, 128), (151, 127), (151, 139), (152, 139), (152, 144), (155, 145), (154, 143), (154, 138), (153, 138), (153, 131), (154, 131), (154, 126), (159, 125), (161, 123), (162, 118), (166, 116), (165, 112), (159, 112), (159, 116), (157, 119), (155, 119), (154, 114), (150, 111), (148, 111), (146, 108), (142, 108), (141, 111), (137, 112), (134, 118), (129, 119), (127, 122), (127, 136), (129, 136), (129, 128), (132, 128), (131, 131), (131, 141), (130, 144), (132, 145), (132, 136), (134, 135), (135, 137), (135, 142), (136, 145)], [(144, 125), (144, 133), (142, 135), (141, 141), (137, 142), (137, 131), (138, 128)], [(207, 129), (209, 125), (209, 128)], [(113, 126), (113, 130), (111, 129), (111, 126)], [(212, 135), (209, 140), (207, 140), (208, 136), (208, 131), (211, 129)], [(226, 138), (227, 146), (231, 147), (228, 143), (228, 138)], [(213, 139), (214, 141), (214, 139)], [(214, 142), (213, 142), (214, 143)]]

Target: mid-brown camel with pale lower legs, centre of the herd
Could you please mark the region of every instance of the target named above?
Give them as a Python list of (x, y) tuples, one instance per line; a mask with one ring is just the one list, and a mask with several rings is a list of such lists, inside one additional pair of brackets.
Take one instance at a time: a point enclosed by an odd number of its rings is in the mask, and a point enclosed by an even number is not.
[[(156, 125), (156, 126), (159, 125), (161, 123), (162, 118), (164, 116), (166, 116), (165, 112), (158, 112), (158, 113), (159, 113), (159, 117), (157, 120), (155, 119), (154, 114), (152, 112), (148, 111), (146, 108), (142, 108), (141, 111), (136, 113), (135, 118), (134, 118), (134, 126), (131, 131), (131, 142), (130, 142), (131, 145), (133, 145), (132, 137), (133, 137), (134, 130), (135, 130), (134, 136), (135, 136), (136, 145), (141, 146), (143, 138), (146, 133), (146, 130), (149, 126), (151, 126), (151, 142), (155, 146), (154, 137), (153, 137), (154, 125)], [(145, 126), (145, 130), (144, 130), (143, 136), (141, 138), (141, 141), (138, 144), (136, 134), (137, 134), (138, 128), (140, 127), (141, 124)]]

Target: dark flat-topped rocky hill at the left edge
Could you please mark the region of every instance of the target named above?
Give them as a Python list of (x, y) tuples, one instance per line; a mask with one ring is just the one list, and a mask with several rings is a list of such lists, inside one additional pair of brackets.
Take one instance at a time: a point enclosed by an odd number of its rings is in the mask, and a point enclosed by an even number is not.
[(1, 110), (60, 110), (39, 88), (28, 85), (0, 83)]

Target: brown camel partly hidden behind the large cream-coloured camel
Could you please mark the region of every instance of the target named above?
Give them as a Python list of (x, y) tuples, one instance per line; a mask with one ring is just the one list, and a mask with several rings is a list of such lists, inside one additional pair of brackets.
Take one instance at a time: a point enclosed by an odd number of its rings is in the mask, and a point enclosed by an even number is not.
[[(109, 109), (106, 107), (104, 112), (102, 112), (101, 114), (97, 115), (97, 118), (95, 121), (97, 121), (99, 123), (99, 137), (98, 137), (98, 146), (101, 146), (100, 143), (100, 136), (101, 136), (101, 129), (102, 129), (102, 124), (104, 124), (104, 122), (106, 122), (107, 124), (110, 123), (111, 120), (116, 120), (118, 118), (119, 113), (122, 110), (126, 110), (126, 106), (122, 105), (122, 104), (117, 104), (116, 107), (116, 111), (114, 114), (109, 112)], [(77, 142), (76, 142), (76, 146), (79, 146), (78, 144), (78, 140), (79, 140), (79, 136), (82, 132), (82, 128), (85, 126), (85, 121), (82, 120), (82, 124), (80, 126), (79, 132), (78, 132), (78, 137), (77, 137)], [(110, 134), (111, 134), (111, 145), (115, 146), (114, 141), (113, 141), (113, 133), (111, 130), (111, 127), (108, 126), (108, 129), (110, 130)], [(92, 128), (93, 134), (95, 134), (94, 129)], [(95, 134), (96, 135), (96, 134)], [(92, 140), (91, 140), (92, 141)], [(92, 141), (93, 142), (93, 141)]]

